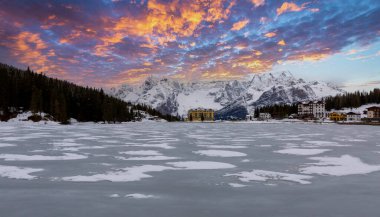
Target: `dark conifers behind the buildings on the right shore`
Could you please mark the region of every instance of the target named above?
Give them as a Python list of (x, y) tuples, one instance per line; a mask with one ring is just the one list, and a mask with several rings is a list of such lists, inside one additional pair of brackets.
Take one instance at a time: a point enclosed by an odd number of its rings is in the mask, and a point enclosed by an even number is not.
[[(356, 91), (353, 93), (339, 94), (324, 98), (326, 102), (326, 110), (342, 109), (342, 108), (357, 108), (369, 103), (380, 104), (380, 89), (375, 88), (369, 92)], [(298, 104), (281, 104), (264, 106), (255, 109), (255, 116), (259, 113), (270, 113), (274, 118), (285, 118), (291, 114), (297, 114)]]

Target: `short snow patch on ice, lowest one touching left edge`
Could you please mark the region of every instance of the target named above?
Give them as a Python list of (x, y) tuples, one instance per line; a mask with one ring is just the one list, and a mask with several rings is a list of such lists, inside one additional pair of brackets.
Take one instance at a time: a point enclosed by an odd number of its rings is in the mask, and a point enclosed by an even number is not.
[(30, 173), (40, 172), (44, 169), (29, 168), (29, 167), (16, 167), (16, 166), (4, 166), (0, 165), (0, 176), (11, 179), (35, 179), (36, 176), (30, 175)]

